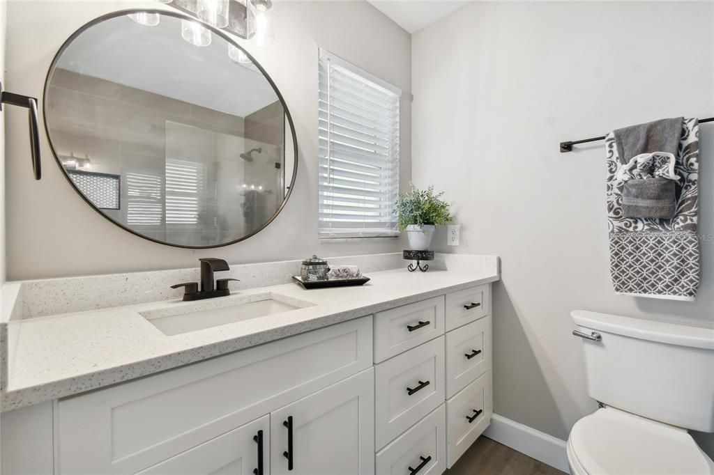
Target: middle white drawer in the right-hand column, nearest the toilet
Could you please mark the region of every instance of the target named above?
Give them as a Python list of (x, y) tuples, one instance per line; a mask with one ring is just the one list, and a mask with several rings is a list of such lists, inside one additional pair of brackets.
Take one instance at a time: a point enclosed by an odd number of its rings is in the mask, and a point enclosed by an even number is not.
[(446, 334), (446, 397), (491, 369), (491, 317)]

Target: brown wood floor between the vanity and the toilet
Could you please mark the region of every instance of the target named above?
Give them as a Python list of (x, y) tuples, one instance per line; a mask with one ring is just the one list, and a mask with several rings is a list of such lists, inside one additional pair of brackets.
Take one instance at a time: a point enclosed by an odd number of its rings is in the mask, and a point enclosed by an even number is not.
[(560, 475), (562, 471), (481, 436), (446, 475)]

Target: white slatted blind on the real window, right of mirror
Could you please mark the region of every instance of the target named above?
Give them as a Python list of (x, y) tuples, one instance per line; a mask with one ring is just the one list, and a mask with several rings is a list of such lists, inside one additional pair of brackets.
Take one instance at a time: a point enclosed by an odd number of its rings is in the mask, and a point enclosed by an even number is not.
[(396, 236), (401, 91), (325, 51), (319, 63), (320, 237)]

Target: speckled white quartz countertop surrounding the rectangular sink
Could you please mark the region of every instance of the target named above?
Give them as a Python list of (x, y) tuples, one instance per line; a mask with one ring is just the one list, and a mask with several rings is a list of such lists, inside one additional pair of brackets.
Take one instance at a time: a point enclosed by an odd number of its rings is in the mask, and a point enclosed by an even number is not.
[(10, 321), (1, 409), (79, 394), (493, 282), (498, 280), (498, 266), (424, 273), (386, 270), (370, 272), (368, 277), (371, 282), (363, 287), (304, 290), (283, 284), (234, 291), (209, 305), (260, 300), (269, 294), (302, 308), (173, 336), (159, 331), (140, 312), (173, 313), (196, 302), (163, 300)]

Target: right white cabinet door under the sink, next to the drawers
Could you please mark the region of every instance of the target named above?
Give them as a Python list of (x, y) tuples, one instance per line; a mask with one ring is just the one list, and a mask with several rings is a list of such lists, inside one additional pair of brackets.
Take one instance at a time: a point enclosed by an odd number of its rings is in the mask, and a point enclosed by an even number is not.
[(271, 413), (272, 475), (373, 473), (373, 369)]

